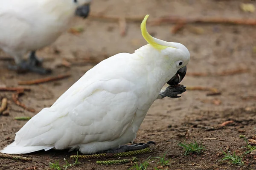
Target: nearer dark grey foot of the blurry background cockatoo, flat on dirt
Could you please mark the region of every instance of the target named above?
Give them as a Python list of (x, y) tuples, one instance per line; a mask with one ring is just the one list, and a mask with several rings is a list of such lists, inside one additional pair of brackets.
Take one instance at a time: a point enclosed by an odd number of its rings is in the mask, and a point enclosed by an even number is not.
[(8, 68), (10, 70), (16, 71), (17, 73), (25, 73), (28, 71), (35, 72), (38, 74), (51, 73), (50, 69), (45, 69), (45, 68), (37, 67), (35, 65), (30, 65), (30, 64), (26, 63), (25, 61), (20, 62), (18, 65), (9, 65)]

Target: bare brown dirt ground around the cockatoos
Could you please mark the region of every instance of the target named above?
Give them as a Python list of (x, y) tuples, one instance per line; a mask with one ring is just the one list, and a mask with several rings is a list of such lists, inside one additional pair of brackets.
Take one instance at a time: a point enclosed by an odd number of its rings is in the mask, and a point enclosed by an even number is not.
[[(181, 17), (216, 17), (253, 19), (256, 12), (242, 11), (241, 3), (252, 3), (251, 0), (94, 0), (91, 14), (104, 16), (145, 16), (151, 14), (148, 21), (157, 17), (172, 15)], [(16, 116), (34, 116), (42, 108), (50, 107), (61, 94), (76, 82), (93, 64), (74, 64), (70, 68), (61, 65), (62, 59), (96, 58), (99, 61), (119, 52), (132, 53), (146, 42), (140, 34), (140, 23), (128, 22), (126, 35), (120, 35), (118, 22), (86, 20), (75, 18), (72, 26), (82, 27), (80, 34), (64, 33), (54, 44), (38, 51), (38, 56), (45, 59), (44, 67), (53, 68), (51, 76), (70, 73), (71, 77), (40, 85), (23, 85), (31, 88), (20, 96), (20, 102), (34, 108), (35, 113), (15, 105), (12, 101), (14, 92), (0, 92), (1, 97), (9, 100), (9, 116), (0, 116), (0, 149), (13, 142), (15, 133), (26, 123), (17, 121)], [(239, 170), (256, 169), (256, 157), (243, 157), (244, 165), (218, 162), (221, 157), (217, 153), (230, 146), (230, 153), (236, 151), (242, 155), (246, 149), (239, 135), (253, 138), (256, 132), (256, 34), (255, 26), (216, 24), (189, 24), (176, 34), (171, 30), (175, 25), (161, 24), (149, 26), (148, 31), (154, 37), (185, 45), (191, 54), (187, 66), (187, 74), (183, 85), (187, 87), (201, 86), (216, 88), (221, 95), (207, 96), (207, 91), (188, 90), (179, 99), (157, 100), (145, 117), (135, 142), (154, 141), (153, 153), (136, 156), (145, 161), (148, 156), (163, 156), (170, 159), (169, 170)], [(253, 52), (254, 49), (254, 52)], [(8, 57), (0, 52), (0, 57)], [(87, 60), (85, 60), (87, 61)], [(44, 76), (27, 73), (17, 74), (6, 69), (12, 60), (0, 60), (0, 86), (17, 87), (17, 82), (43, 78)], [(243, 73), (233, 75), (225, 72), (237, 69)], [(193, 73), (208, 74), (195, 76)], [(220, 127), (228, 120), (234, 122)], [(180, 136), (179, 134), (187, 134)], [(207, 150), (201, 154), (184, 156), (179, 142), (202, 142)], [(48, 170), (49, 162), (64, 158), (70, 163), (74, 160), (67, 150), (50, 150), (26, 154), (34, 161), (24, 162), (11, 159), (0, 159), (0, 170), (24, 170), (26, 168)], [(98, 165), (97, 159), (79, 160), (80, 164), (68, 169), (72, 170), (127, 170), (128, 164)], [(149, 170), (157, 167), (157, 160), (150, 161)], [(29, 170), (29, 169), (27, 169)]]

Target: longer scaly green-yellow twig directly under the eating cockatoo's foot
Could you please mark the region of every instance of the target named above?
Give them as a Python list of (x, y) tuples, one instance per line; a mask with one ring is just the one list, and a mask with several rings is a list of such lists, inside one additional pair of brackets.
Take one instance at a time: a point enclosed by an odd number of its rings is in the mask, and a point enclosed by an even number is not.
[(99, 154), (92, 154), (92, 155), (71, 155), (71, 159), (95, 159), (95, 158), (114, 158), (114, 157), (123, 157), (123, 156), (134, 156), (140, 155), (144, 153), (151, 153), (153, 152), (150, 147), (141, 150), (134, 150), (128, 152), (121, 152), (121, 153), (99, 153)]

